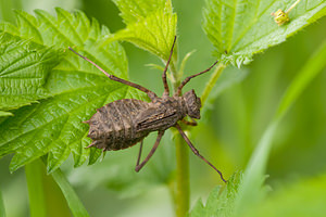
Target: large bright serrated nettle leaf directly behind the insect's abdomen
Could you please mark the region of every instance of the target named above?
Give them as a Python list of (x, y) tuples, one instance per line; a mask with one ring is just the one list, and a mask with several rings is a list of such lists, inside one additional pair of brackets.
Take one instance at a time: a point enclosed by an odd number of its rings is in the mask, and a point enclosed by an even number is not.
[[(127, 79), (127, 59), (117, 42), (98, 47), (110, 35), (106, 27), (100, 28), (96, 20), (90, 22), (79, 11), (71, 14), (57, 9), (58, 17), (37, 10), (36, 17), (16, 11), (17, 26), (0, 25), (0, 31), (28, 39), (45, 48), (67, 49), (74, 47), (108, 73)], [(48, 72), (43, 88), (51, 98), (38, 104), (13, 111), (0, 124), (0, 157), (15, 153), (10, 170), (48, 154), (47, 170), (51, 173), (72, 153), (75, 166), (90, 156), (92, 164), (100, 150), (84, 149), (90, 143), (88, 126), (83, 124), (95, 114), (96, 108), (123, 98), (143, 99), (143, 94), (125, 85), (111, 81), (95, 66), (66, 50), (64, 58)]]

